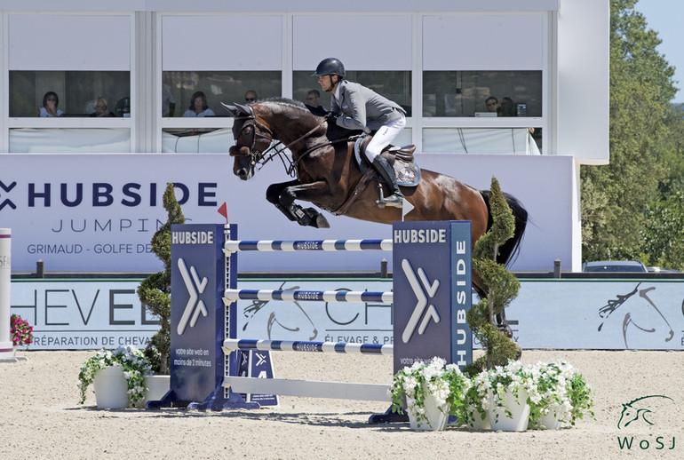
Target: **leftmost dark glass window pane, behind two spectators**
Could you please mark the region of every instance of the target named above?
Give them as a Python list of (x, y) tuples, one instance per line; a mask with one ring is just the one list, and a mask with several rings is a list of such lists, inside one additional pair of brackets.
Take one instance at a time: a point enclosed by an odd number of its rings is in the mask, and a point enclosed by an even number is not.
[(63, 116), (91, 116), (99, 98), (105, 99), (111, 115), (130, 115), (131, 73), (128, 71), (11, 70), (10, 116), (37, 116), (41, 108), (47, 112), (43, 100), (52, 99), (45, 97), (51, 91), (57, 95), (57, 109)]

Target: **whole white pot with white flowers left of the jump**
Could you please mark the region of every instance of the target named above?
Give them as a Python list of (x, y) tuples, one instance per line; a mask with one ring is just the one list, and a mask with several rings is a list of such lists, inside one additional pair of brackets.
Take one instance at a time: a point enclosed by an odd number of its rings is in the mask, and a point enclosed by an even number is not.
[(85, 402), (86, 390), (92, 384), (98, 408), (134, 406), (145, 396), (145, 376), (150, 369), (145, 354), (135, 346), (120, 346), (114, 351), (103, 348), (81, 367), (79, 403)]

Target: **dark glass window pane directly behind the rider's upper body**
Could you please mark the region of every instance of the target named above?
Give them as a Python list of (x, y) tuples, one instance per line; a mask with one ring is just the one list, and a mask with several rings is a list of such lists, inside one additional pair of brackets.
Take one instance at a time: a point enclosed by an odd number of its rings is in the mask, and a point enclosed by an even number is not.
[[(292, 98), (306, 103), (306, 93), (321, 91), (318, 79), (311, 71), (292, 72)], [(346, 80), (361, 83), (387, 99), (394, 100), (411, 115), (411, 73), (410, 71), (347, 71)], [(321, 105), (330, 110), (330, 95), (321, 94)]]

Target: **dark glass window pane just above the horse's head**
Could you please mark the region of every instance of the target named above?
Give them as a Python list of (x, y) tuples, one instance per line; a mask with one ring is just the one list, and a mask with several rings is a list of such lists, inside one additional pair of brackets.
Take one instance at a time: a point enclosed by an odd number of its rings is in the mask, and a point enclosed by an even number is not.
[[(185, 72), (165, 71), (162, 75), (164, 92), (163, 116), (195, 116), (192, 114), (190, 105), (193, 95), (197, 91), (204, 93), (207, 107), (214, 115), (228, 116), (228, 112), (221, 106), (221, 102), (231, 104), (233, 102), (244, 103), (247, 91), (256, 91), (258, 99), (266, 99), (281, 96), (282, 72), (281, 71), (206, 71)], [(170, 114), (170, 100), (175, 101), (175, 110)], [(188, 110), (190, 112), (188, 112)]]

